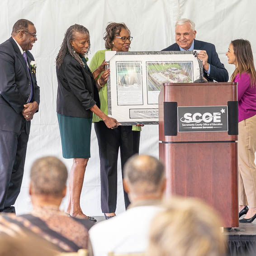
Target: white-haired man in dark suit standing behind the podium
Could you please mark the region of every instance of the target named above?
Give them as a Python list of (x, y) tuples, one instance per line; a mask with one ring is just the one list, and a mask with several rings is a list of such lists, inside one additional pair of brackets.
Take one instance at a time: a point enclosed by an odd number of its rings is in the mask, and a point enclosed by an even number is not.
[(194, 22), (190, 19), (179, 19), (175, 24), (176, 43), (162, 51), (201, 50), (198, 58), (203, 61), (204, 77), (209, 81), (228, 82), (228, 71), (218, 58), (212, 43), (195, 40)]

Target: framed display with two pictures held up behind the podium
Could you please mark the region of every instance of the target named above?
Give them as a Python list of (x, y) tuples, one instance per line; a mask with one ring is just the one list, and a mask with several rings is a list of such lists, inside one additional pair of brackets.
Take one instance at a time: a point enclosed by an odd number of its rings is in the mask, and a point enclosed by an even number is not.
[(199, 62), (192, 51), (106, 51), (105, 61), (110, 69), (108, 113), (123, 125), (157, 124), (163, 84), (199, 78)]

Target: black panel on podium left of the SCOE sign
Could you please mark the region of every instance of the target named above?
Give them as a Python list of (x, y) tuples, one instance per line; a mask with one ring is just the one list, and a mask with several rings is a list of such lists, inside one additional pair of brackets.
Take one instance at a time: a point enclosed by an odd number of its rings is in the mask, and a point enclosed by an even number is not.
[(178, 103), (164, 102), (164, 135), (177, 136), (178, 126)]

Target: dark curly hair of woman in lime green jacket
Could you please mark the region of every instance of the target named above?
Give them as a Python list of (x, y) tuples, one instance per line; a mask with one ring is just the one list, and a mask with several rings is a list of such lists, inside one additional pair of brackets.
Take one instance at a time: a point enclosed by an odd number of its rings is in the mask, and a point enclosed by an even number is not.
[(105, 43), (106, 49), (112, 48), (112, 42), (114, 40), (114, 37), (120, 35), (122, 28), (126, 29), (129, 32), (129, 34), (131, 33), (124, 23), (109, 22), (109, 24), (106, 27), (106, 32), (104, 33), (104, 38), (103, 38), (106, 41)]

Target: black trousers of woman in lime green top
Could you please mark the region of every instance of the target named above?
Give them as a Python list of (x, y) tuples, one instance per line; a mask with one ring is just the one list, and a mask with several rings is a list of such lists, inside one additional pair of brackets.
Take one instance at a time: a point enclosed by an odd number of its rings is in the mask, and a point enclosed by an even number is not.
[[(129, 157), (139, 152), (140, 132), (132, 131), (131, 126), (109, 129), (103, 121), (94, 123), (100, 152), (101, 210), (114, 213), (117, 201), (117, 161), (120, 147), (121, 168)], [(125, 191), (125, 209), (130, 204)]]

